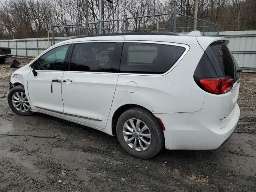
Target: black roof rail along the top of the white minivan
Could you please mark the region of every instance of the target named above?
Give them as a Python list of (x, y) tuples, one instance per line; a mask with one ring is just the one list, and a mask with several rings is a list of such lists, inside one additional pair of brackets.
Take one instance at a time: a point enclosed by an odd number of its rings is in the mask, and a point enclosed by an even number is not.
[(119, 35), (178, 35), (173, 32), (128, 32), (128, 33), (104, 33), (96, 35), (81, 35), (73, 37), (72, 39), (82, 38), (82, 37), (99, 37), (99, 36), (119, 36)]

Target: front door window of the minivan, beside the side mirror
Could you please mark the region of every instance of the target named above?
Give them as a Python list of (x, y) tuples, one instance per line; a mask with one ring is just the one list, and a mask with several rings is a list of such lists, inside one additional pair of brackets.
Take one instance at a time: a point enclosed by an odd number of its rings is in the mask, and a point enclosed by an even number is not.
[(65, 69), (65, 56), (69, 45), (56, 47), (46, 54), (42, 55), (36, 61), (36, 68), (38, 70), (64, 70)]

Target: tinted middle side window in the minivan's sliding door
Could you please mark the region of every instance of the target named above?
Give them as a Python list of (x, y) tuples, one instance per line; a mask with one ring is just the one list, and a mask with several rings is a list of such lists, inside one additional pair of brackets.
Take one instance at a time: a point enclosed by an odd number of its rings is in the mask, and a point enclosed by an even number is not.
[(110, 72), (117, 62), (114, 56), (115, 46), (115, 42), (75, 44), (69, 71)]

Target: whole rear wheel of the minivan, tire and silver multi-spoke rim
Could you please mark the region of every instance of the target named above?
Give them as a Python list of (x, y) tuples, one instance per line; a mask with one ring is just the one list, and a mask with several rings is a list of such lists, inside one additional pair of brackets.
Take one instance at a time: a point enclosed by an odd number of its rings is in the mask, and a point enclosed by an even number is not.
[[(132, 122), (134, 126), (132, 126)], [(130, 130), (132, 127), (139, 131), (133, 132)], [(134, 134), (132, 135), (132, 133)], [(151, 112), (143, 108), (131, 108), (125, 111), (117, 121), (116, 134), (122, 148), (136, 158), (151, 158), (158, 154), (164, 146), (164, 133), (159, 122)], [(135, 140), (137, 140), (136, 144)]]

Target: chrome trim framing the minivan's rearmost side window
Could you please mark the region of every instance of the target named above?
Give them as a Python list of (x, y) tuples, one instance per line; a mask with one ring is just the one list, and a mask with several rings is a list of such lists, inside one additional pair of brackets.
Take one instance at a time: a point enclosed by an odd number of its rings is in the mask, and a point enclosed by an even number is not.
[[(180, 44), (180, 43), (171, 43), (171, 42), (163, 42), (163, 41), (139, 41), (139, 40), (125, 40), (124, 43), (147, 43), (147, 44), (162, 44), (162, 45), (172, 45), (172, 46), (179, 46), (184, 47), (185, 51), (180, 56), (180, 58), (176, 61), (176, 63), (166, 72), (162, 74), (147, 74), (147, 73), (119, 73), (120, 75), (137, 75), (137, 76), (164, 76), (172, 71), (177, 64), (182, 60), (182, 58), (187, 54), (190, 46), (187, 44)], [(121, 64), (120, 64), (121, 65)]]

